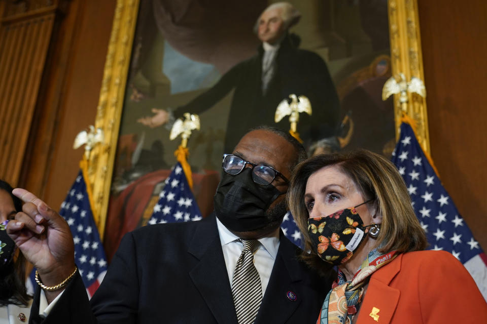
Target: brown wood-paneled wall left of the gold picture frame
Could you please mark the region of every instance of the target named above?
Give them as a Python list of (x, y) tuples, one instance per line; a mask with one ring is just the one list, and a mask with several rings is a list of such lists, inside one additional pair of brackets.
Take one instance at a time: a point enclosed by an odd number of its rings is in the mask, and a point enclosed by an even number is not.
[(0, 0), (0, 178), (58, 208), (93, 124), (116, 0)]

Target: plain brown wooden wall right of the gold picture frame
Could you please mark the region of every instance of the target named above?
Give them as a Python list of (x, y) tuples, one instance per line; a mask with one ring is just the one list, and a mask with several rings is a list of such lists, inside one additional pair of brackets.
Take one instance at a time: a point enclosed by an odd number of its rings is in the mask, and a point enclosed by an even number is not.
[(487, 2), (419, 0), (431, 155), (487, 251)]

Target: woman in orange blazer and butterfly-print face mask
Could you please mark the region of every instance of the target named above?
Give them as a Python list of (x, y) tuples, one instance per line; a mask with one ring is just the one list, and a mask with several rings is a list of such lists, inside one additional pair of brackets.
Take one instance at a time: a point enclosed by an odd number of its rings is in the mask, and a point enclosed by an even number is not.
[(339, 270), (317, 323), (487, 320), (464, 266), (447, 252), (421, 251), (424, 230), (386, 158), (366, 150), (311, 157), (296, 167), (288, 204), (308, 251), (302, 258)]

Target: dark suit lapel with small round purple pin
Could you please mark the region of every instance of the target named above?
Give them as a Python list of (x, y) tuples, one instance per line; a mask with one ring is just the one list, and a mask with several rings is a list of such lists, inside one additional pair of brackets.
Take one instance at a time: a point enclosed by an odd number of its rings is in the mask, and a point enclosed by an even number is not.
[(284, 323), (301, 303), (303, 295), (299, 281), (302, 280), (302, 272), (296, 260), (285, 257), (290, 255), (296, 255), (296, 246), (281, 231), (279, 251), (257, 314), (256, 324)]

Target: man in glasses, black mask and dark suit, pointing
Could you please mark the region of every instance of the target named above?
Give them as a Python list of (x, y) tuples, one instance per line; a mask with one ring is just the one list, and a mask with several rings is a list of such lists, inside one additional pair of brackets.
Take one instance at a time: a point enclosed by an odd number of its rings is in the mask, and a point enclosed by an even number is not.
[[(299, 249), (280, 230), (288, 179), (303, 157), (302, 146), (286, 132), (246, 134), (224, 157), (215, 214), (126, 234), (91, 303), (79, 273), (62, 284), (75, 268), (68, 225), (39, 198), (15, 189), (25, 205), (7, 230), (44, 285), (34, 296), (31, 322), (242, 323), (232, 285), (240, 239), (258, 240), (253, 263), (262, 302), (255, 323), (315, 322), (331, 278), (298, 261)], [(46, 289), (59, 284), (58, 290)], [(40, 309), (43, 298), (51, 303), (47, 310)]]

